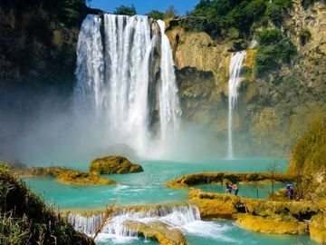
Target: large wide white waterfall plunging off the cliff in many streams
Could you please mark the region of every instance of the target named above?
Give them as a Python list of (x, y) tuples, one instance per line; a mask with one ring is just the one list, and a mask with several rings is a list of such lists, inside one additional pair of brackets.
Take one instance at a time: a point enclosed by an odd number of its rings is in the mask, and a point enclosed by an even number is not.
[(163, 22), (141, 15), (87, 15), (76, 77), (75, 111), (104, 128), (109, 145), (125, 143), (145, 154), (151, 140), (158, 142), (179, 126), (176, 75)]

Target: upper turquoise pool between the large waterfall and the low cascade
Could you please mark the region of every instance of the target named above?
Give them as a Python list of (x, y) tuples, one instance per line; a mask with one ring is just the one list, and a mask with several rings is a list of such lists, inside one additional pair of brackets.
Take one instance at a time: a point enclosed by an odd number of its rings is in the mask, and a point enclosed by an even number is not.
[[(285, 159), (216, 160), (202, 163), (150, 161), (140, 162), (143, 172), (103, 175), (118, 181), (118, 185), (87, 187), (64, 185), (53, 178), (24, 180), (32, 190), (41, 193), (46, 201), (62, 209), (101, 209), (112, 202), (149, 204), (187, 201), (187, 190), (166, 188), (164, 184), (176, 177), (201, 171), (265, 171), (266, 166), (274, 162), (277, 163), (279, 171), (286, 170)], [(87, 170), (87, 164), (69, 167)], [(245, 189), (248, 192), (245, 192)], [(245, 189), (241, 189), (239, 195), (254, 195), (254, 189)]]

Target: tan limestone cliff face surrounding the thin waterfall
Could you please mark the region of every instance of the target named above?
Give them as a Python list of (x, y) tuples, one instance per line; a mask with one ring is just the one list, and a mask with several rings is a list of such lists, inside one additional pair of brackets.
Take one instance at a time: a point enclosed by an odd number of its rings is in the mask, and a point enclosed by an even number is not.
[[(322, 1), (312, 1), (310, 5), (300, 0), (293, 2), (281, 29), (291, 38), (297, 54), (277, 72), (255, 77), (256, 50), (247, 51), (234, 119), (238, 152), (287, 156), (292, 142), (313, 115), (323, 110), (322, 104), (326, 102), (322, 95), (326, 93), (325, 16), (326, 5)], [(303, 41), (305, 31), (310, 36)], [(173, 47), (185, 119), (210, 126), (221, 141), (225, 141), (228, 66), (235, 51), (234, 43), (239, 40), (214, 39), (204, 32), (187, 32), (176, 25), (176, 21), (170, 25), (168, 37)], [(248, 44), (252, 38), (247, 37), (244, 42)], [(248, 145), (247, 149), (244, 145)]]

